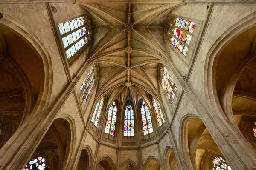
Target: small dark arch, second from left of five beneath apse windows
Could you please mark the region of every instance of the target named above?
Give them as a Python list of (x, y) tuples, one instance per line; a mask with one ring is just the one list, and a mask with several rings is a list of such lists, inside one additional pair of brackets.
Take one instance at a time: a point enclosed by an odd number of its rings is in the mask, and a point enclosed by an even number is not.
[(115, 170), (115, 164), (109, 156), (101, 157), (96, 164), (96, 170)]

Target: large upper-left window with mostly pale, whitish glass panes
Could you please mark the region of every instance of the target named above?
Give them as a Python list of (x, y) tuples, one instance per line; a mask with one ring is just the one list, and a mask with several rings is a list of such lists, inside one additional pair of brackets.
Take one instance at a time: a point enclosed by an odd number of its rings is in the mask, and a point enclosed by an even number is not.
[(87, 17), (78, 17), (63, 23), (58, 23), (67, 59), (73, 57), (90, 41), (91, 23)]

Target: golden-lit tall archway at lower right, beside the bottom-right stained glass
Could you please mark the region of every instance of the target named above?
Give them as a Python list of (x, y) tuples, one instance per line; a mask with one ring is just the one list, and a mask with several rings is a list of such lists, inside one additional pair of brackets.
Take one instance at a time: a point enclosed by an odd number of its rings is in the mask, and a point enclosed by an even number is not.
[[(184, 136), (182, 137), (184, 139), (181, 140), (183, 142), (181, 146), (184, 147), (183, 152), (185, 152), (183, 156), (186, 156), (191, 169), (199, 168), (199, 170), (203, 170), (207, 166), (208, 170), (212, 161), (210, 159), (213, 159), (214, 155), (222, 155), (221, 150), (215, 143), (202, 119), (198, 118), (198, 116), (190, 115), (185, 116), (183, 120), (182, 131), (184, 131)], [(208, 153), (211, 154), (209, 155)], [(207, 154), (207, 159), (205, 159), (205, 155)]]

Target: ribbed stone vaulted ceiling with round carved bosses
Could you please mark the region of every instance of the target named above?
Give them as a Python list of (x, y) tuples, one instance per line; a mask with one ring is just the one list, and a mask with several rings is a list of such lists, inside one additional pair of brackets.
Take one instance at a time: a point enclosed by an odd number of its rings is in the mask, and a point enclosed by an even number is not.
[[(180, 0), (79, 1), (93, 20), (94, 40), (88, 57), (99, 66), (96, 98), (111, 93), (113, 101), (129, 86), (144, 98), (148, 93), (158, 96), (159, 63), (171, 62), (164, 28), (171, 10), (180, 4)], [(125, 100), (128, 93), (123, 95)]]

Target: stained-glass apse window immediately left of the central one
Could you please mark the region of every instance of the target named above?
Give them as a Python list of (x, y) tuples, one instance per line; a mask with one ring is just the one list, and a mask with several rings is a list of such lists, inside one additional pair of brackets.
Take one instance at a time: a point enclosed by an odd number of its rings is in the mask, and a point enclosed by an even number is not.
[(112, 136), (114, 136), (115, 134), (116, 112), (117, 112), (116, 103), (113, 102), (113, 104), (108, 109), (108, 118), (107, 118), (107, 123), (105, 127), (105, 133), (108, 133)]

